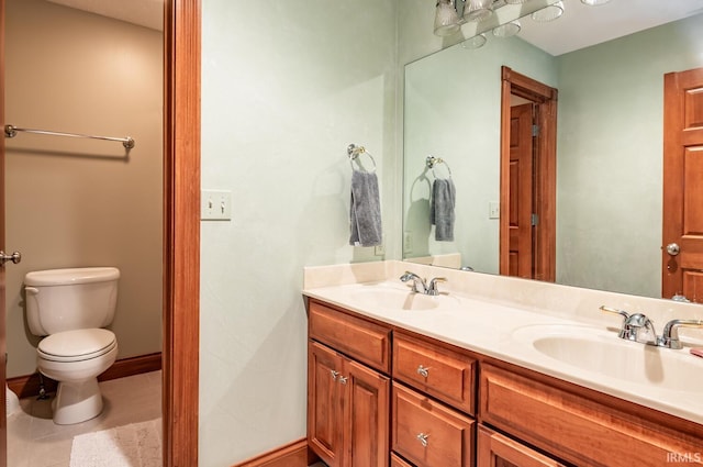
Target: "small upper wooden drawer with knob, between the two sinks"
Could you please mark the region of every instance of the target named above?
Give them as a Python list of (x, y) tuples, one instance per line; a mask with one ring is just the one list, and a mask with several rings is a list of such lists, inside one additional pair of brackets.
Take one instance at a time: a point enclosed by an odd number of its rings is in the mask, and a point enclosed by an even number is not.
[(393, 340), (393, 377), (469, 414), (475, 413), (476, 360), (400, 333)]

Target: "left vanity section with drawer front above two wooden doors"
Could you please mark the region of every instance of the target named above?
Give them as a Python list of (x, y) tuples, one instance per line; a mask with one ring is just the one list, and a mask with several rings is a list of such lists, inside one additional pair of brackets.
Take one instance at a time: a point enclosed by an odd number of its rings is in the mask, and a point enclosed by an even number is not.
[(389, 366), (390, 330), (313, 301), (309, 325), (310, 447), (330, 467), (387, 467), (390, 378), (356, 358)]

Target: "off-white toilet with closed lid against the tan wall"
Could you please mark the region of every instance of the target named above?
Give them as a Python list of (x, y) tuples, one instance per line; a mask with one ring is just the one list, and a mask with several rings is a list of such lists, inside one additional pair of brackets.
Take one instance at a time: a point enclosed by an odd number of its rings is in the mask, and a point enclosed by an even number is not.
[(98, 375), (118, 356), (112, 331), (120, 270), (114, 267), (49, 269), (24, 277), (26, 318), (40, 341), (37, 368), (58, 381), (54, 423), (68, 425), (102, 411)]

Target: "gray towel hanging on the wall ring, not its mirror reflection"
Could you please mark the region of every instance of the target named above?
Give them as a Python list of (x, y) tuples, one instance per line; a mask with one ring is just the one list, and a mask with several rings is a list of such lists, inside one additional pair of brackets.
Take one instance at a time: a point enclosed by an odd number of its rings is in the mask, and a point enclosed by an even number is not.
[(376, 173), (353, 171), (349, 223), (350, 245), (376, 246), (382, 243), (381, 203)]

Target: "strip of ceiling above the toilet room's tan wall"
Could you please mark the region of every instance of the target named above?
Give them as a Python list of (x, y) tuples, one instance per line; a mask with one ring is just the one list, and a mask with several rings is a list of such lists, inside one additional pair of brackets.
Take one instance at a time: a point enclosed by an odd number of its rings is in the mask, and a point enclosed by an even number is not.
[(164, 0), (47, 0), (52, 3), (164, 31)]

